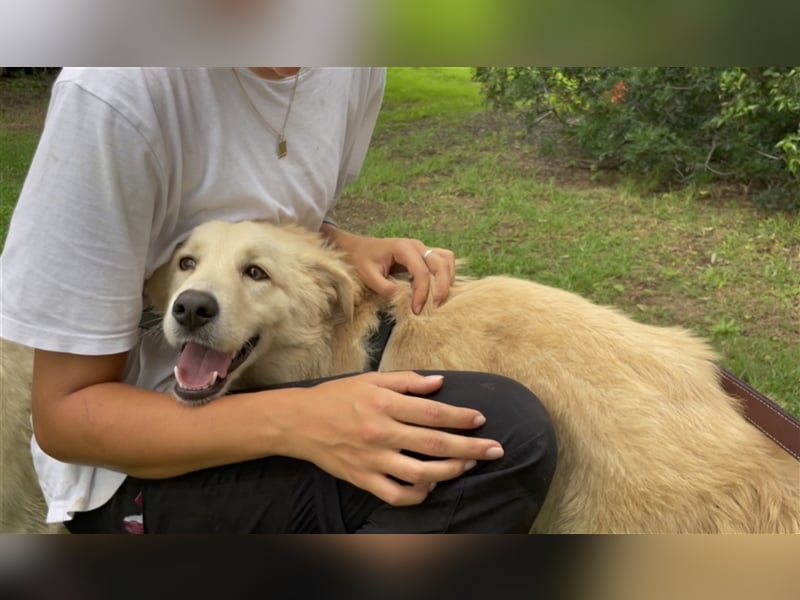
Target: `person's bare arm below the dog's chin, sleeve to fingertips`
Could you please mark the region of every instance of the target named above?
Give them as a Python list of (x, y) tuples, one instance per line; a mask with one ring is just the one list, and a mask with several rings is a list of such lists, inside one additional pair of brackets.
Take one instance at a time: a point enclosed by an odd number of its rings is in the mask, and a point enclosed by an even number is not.
[[(474, 429), (485, 421), (475, 410), (414, 397), (438, 389), (435, 377), (367, 373), (187, 406), (120, 383), (125, 360), (36, 351), (33, 426), (45, 452), (141, 478), (290, 456), (396, 505), (421, 502), (431, 484), (459, 476), (474, 460), (502, 456), (496, 441), (431, 429)], [(400, 448), (444, 460), (420, 461)]]

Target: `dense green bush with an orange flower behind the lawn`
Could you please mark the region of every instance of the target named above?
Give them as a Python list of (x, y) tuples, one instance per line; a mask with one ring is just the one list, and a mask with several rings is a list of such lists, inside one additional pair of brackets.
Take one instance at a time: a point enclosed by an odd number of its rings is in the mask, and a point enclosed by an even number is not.
[(490, 106), (547, 119), (587, 153), (653, 186), (728, 182), (800, 210), (800, 68), (478, 67)]

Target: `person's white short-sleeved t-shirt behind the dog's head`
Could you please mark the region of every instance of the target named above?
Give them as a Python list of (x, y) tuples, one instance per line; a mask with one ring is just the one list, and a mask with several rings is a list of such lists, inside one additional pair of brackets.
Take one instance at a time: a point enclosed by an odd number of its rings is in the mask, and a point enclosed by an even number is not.
[[(316, 230), (361, 168), (385, 71), (298, 77), (278, 159), (270, 126), (283, 125), (292, 77), (64, 69), (0, 256), (0, 336), (74, 354), (130, 350), (125, 381), (165, 390), (174, 352), (138, 324), (143, 282), (175, 245), (212, 219)], [(31, 449), (48, 522), (101, 506), (125, 478), (59, 462), (35, 439)]]

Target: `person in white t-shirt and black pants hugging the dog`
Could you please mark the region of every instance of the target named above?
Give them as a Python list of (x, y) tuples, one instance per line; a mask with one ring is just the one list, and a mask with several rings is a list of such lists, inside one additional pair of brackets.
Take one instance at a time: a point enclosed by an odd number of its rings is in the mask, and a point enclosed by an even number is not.
[(419, 240), (359, 236), (328, 218), (361, 169), (384, 82), (377, 68), (62, 70), (0, 257), (2, 335), (35, 348), (31, 448), (49, 522), (530, 527), (556, 450), (546, 412), (516, 382), (373, 372), (189, 407), (166, 391), (172, 352), (139, 329), (143, 282), (212, 219), (298, 221), (378, 293), (404, 268), (419, 282), (417, 310), (430, 273), (446, 298), (449, 250), (423, 257)]

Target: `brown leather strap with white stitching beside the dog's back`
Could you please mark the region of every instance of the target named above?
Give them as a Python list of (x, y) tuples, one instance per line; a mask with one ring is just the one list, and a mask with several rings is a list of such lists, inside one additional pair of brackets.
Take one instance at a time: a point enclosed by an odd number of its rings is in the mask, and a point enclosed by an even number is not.
[(800, 420), (733, 373), (720, 368), (722, 389), (745, 403), (745, 418), (800, 461)]

